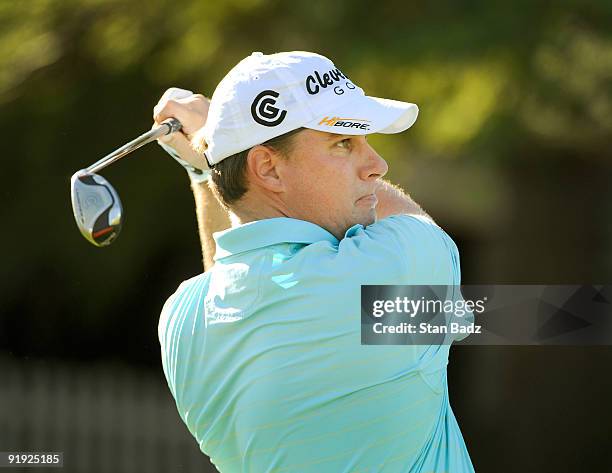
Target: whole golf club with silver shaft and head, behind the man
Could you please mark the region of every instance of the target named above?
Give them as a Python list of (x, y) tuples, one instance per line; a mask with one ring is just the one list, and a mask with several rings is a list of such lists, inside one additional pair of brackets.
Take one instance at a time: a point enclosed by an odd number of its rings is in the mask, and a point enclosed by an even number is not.
[(141, 146), (181, 129), (176, 118), (163, 121), (158, 127), (104, 156), (91, 166), (75, 172), (70, 179), (72, 212), (81, 234), (96, 246), (110, 245), (121, 231), (123, 208), (113, 186), (96, 173)]

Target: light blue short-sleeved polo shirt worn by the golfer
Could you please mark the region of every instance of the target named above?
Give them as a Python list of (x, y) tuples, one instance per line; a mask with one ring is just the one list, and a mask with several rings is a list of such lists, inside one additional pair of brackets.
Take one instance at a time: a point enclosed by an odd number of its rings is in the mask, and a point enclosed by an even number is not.
[(449, 404), (449, 346), (361, 345), (362, 284), (459, 285), (424, 217), (338, 241), (273, 218), (214, 234), (216, 264), (159, 321), (179, 414), (222, 473), (474, 471)]

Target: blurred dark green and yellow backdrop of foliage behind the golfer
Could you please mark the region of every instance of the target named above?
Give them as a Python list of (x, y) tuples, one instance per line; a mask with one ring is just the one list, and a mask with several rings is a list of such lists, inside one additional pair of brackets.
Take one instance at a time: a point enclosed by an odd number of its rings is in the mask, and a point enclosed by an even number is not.
[[(106, 249), (79, 234), (69, 178), (146, 131), (166, 88), (210, 96), (252, 51), (318, 52), (369, 95), (419, 105), (408, 132), (371, 142), (456, 241), (464, 283), (611, 283), (610, 25), (603, 0), (0, 1), (3, 366), (120, 366), (163, 391), (157, 317), (202, 270), (187, 176), (153, 144), (104, 170), (125, 215)], [(610, 347), (456, 347), (476, 470), (609, 465), (610, 362)], [(7, 399), (29, 408), (5, 396), (2, 415)], [(29, 429), (0, 450), (51, 448)]]

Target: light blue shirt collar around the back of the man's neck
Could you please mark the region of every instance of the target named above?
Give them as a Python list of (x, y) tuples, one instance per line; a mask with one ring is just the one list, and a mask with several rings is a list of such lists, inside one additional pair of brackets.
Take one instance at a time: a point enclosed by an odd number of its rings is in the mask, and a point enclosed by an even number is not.
[(311, 244), (329, 241), (334, 245), (338, 244), (338, 239), (324, 228), (312, 222), (287, 217), (244, 223), (222, 232), (215, 232), (213, 238), (217, 244), (215, 261), (279, 243)]

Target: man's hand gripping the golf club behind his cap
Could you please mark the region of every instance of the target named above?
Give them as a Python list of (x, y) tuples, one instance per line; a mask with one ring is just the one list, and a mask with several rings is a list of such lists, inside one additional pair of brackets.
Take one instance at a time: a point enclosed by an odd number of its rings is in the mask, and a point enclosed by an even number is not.
[(210, 100), (201, 94), (193, 94), (189, 90), (171, 87), (164, 92), (159, 102), (153, 108), (153, 127), (158, 126), (167, 118), (176, 118), (183, 128), (158, 141), (172, 148), (178, 156), (197, 169), (208, 169), (203, 156), (191, 147), (192, 136), (204, 126), (208, 116)]

